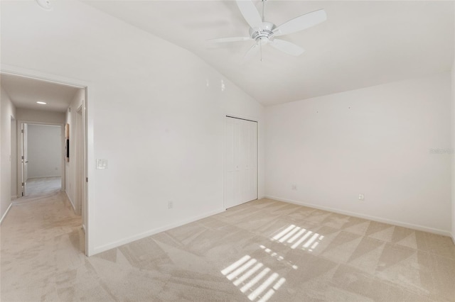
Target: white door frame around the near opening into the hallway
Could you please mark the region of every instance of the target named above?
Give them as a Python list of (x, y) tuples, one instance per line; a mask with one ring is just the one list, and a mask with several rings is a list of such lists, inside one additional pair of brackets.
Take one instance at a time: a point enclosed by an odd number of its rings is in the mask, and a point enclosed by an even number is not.
[[(83, 171), (85, 172), (86, 181), (82, 182), (83, 196), (85, 196), (87, 216), (86, 216), (86, 225), (85, 225), (85, 255), (91, 256), (95, 254), (94, 246), (94, 231), (90, 228), (91, 225), (95, 225), (95, 149), (94, 149), (94, 135), (93, 135), (93, 112), (94, 112), (94, 101), (92, 95), (94, 94), (94, 88), (92, 82), (81, 81), (80, 79), (73, 79), (68, 77), (61, 77), (56, 74), (49, 74), (45, 72), (40, 72), (33, 69), (26, 69), (22, 67), (16, 67), (13, 65), (2, 64), (0, 66), (0, 72), (3, 74), (11, 74), (19, 77), (28, 77), (32, 79), (38, 79), (45, 82), (53, 82), (56, 84), (63, 84), (67, 86), (73, 86), (80, 89), (85, 89), (85, 106), (84, 117), (85, 120), (82, 121), (84, 124), (84, 133), (83, 140), (85, 142), (84, 160), (85, 162)], [(90, 101), (88, 101), (90, 99)], [(32, 123), (36, 123), (33, 122)], [(64, 131), (64, 127), (63, 127)], [(65, 157), (63, 157), (65, 160)], [(65, 164), (63, 165), (65, 166)], [(64, 169), (64, 168), (63, 168)], [(65, 177), (63, 177), (65, 178)], [(88, 182), (90, 179), (90, 182)]]

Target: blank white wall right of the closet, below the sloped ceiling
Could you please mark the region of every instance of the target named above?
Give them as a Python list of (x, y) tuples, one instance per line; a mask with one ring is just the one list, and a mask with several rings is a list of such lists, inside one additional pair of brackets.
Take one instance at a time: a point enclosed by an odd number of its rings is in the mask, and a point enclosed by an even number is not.
[(267, 107), (266, 195), (448, 235), (450, 108), (449, 72)]

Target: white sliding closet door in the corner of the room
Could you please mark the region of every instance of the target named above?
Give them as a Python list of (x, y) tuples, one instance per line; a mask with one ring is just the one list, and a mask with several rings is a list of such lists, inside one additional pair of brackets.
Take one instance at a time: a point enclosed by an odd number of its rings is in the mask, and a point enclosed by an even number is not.
[(226, 117), (225, 208), (257, 199), (257, 123)]

